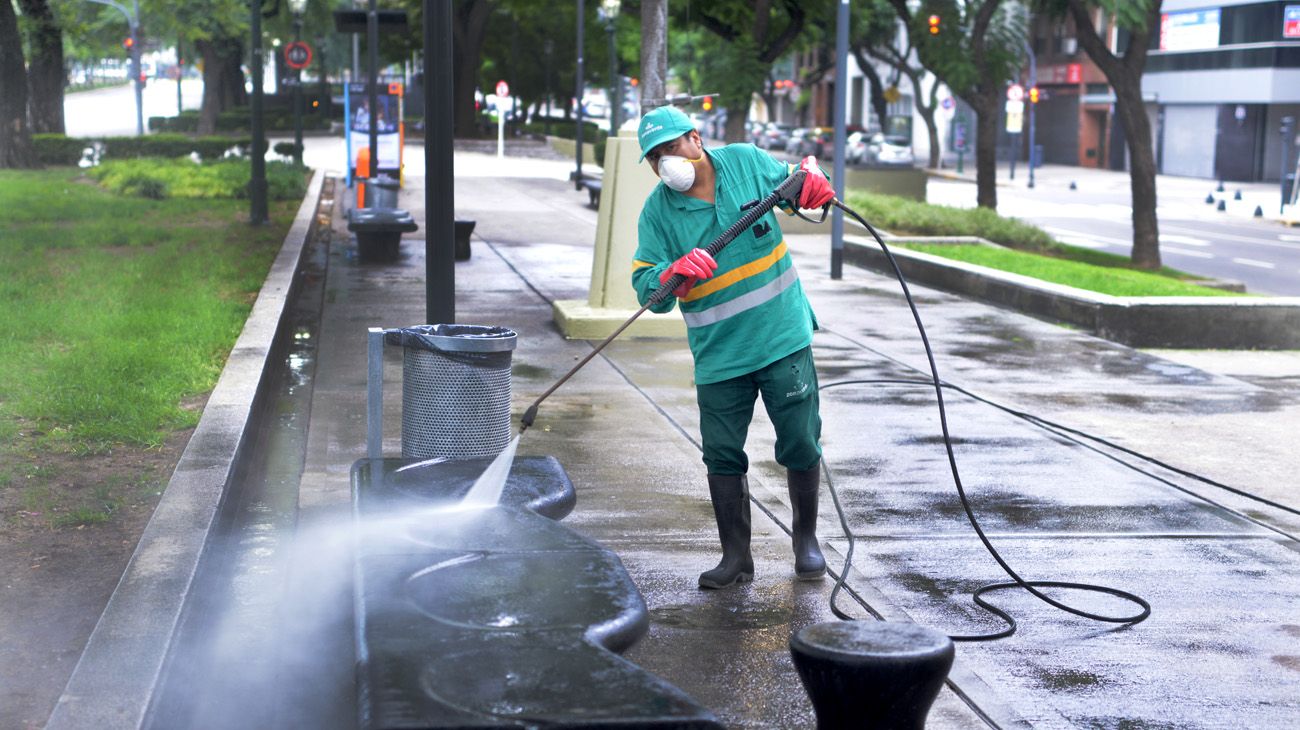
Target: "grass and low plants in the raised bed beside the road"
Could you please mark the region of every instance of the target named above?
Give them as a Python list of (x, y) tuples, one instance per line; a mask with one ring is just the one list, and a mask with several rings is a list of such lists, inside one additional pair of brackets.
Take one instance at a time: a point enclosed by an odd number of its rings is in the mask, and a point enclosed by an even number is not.
[(1186, 271), (1167, 266), (1148, 271), (1138, 269), (1123, 256), (1060, 243), (1037, 226), (1004, 218), (987, 208), (950, 208), (893, 195), (862, 192), (850, 192), (849, 205), (871, 221), (871, 225), (894, 235), (974, 235), (1011, 249), (904, 242), (892, 244), (945, 258), (1114, 296), (1243, 296), (1239, 292), (1187, 283), (1188, 279), (1200, 277)]

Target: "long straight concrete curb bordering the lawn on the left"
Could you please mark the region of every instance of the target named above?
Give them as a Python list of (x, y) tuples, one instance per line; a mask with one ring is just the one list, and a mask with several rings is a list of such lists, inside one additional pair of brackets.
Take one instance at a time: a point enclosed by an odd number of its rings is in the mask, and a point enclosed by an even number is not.
[(203, 417), (46, 727), (144, 724), (208, 530), (246, 444), (256, 438), (248, 425), (274, 360), (281, 318), (296, 290), (324, 181), (321, 170), (312, 175)]

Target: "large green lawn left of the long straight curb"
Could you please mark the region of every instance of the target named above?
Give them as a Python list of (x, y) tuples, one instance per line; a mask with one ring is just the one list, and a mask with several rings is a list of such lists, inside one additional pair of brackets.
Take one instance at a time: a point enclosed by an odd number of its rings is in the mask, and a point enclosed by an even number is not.
[(273, 200), (274, 222), (250, 226), (247, 200), (0, 170), (0, 507), (81, 523), (156, 486), (58, 488), (78, 460), (157, 449), (198, 422), (299, 203)]

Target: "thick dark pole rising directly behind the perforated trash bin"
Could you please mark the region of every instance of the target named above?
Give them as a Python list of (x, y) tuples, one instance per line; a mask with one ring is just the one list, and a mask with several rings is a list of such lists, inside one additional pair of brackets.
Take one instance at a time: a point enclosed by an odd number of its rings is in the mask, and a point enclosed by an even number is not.
[(456, 321), (451, 3), (424, 0), (424, 300), (429, 323)]

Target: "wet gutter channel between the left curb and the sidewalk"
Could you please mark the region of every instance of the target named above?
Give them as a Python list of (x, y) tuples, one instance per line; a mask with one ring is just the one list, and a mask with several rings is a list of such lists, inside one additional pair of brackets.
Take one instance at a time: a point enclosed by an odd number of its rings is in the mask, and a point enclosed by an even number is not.
[[(329, 216), (334, 184), (326, 181), (318, 214)], [(332, 236), (318, 225), (306, 243), (254, 435), (204, 548), (146, 726), (282, 726), (285, 703), (300, 696), (286, 686), (292, 647), (282, 638), (294, 621), (286, 587)]]

